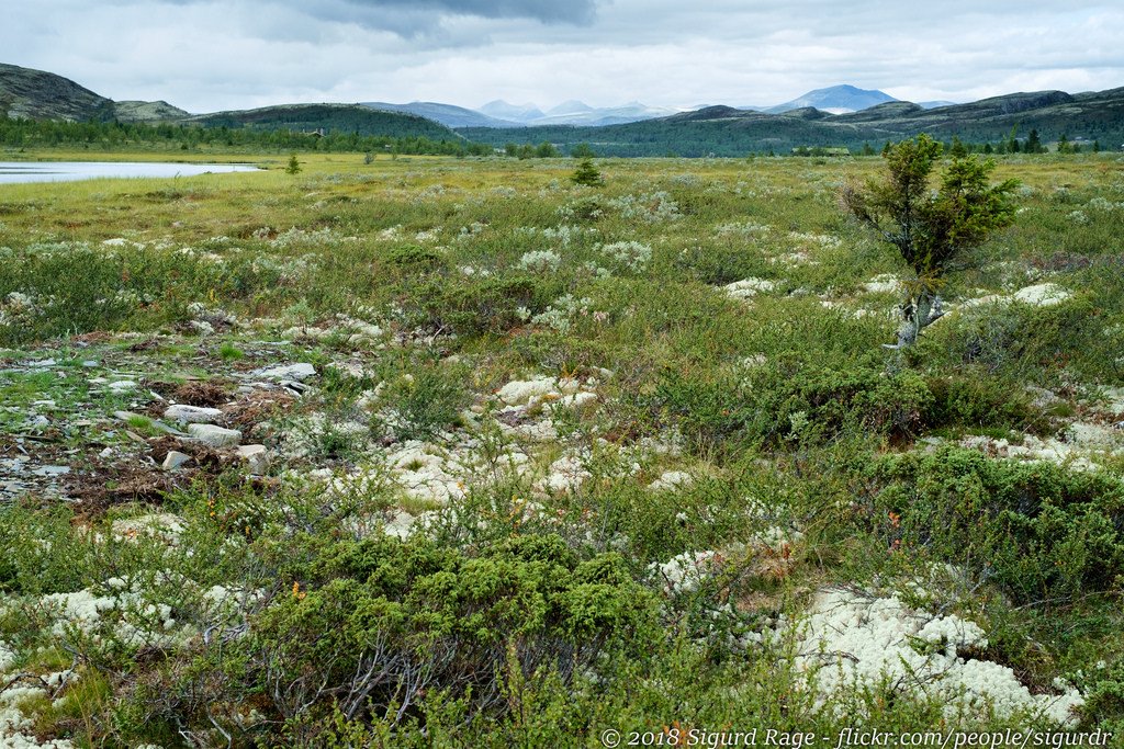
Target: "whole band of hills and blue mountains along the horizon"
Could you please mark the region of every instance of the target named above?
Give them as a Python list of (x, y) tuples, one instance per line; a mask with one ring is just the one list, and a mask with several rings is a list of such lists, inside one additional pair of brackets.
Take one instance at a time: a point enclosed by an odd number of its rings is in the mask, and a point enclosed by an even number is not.
[(1012, 133), (1025, 137), (1032, 128), (1044, 143), (1064, 135), (1124, 149), (1124, 88), (1076, 94), (1019, 92), (966, 104), (916, 104), (882, 91), (836, 85), (776, 107), (717, 104), (682, 112), (638, 102), (595, 108), (566, 101), (543, 111), (534, 104), (491, 101), (479, 110), (438, 102), (365, 102), (191, 115), (165, 101), (112, 101), (53, 73), (0, 64), (0, 116), (466, 138), (497, 148), (547, 140), (563, 152), (588, 144), (604, 156), (743, 156), (787, 153), (799, 146), (879, 148), (918, 133), (996, 143)]

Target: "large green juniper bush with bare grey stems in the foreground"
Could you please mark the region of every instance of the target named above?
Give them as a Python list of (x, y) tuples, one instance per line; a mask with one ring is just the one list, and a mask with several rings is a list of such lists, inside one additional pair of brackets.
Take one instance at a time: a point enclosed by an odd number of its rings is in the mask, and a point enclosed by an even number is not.
[(581, 561), (554, 536), (474, 556), (370, 538), (325, 548), (311, 569), (268, 608), (251, 646), (260, 686), (285, 718), (338, 705), (347, 720), (395, 722), (438, 691), (502, 712), (509, 661), (568, 682), (654, 636), (654, 601), (623, 560)]

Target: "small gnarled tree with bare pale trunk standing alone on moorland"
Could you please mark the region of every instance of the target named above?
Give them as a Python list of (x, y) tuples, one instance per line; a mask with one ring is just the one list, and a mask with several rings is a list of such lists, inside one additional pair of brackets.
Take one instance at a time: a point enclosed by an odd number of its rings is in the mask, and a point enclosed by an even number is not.
[(1010, 193), (1015, 180), (989, 184), (991, 159), (976, 156), (953, 158), (931, 188), (933, 166), (941, 144), (925, 134), (890, 146), (886, 153), (889, 174), (864, 184), (850, 182), (841, 194), (843, 209), (894, 245), (912, 277), (905, 282), (898, 342), (904, 348), (944, 313), (940, 291), (949, 273), (968, 266), (971, 249), (1014, 221)]

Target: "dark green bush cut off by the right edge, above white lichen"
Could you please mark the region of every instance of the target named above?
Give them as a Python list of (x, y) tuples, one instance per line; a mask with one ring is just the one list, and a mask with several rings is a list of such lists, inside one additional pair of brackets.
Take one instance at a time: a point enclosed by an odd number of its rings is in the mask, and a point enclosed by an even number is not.
[[(874, 527), (967, 566), (1019, 603), (1104, 592), (1124, 574), (1124, 484), (1100, 472), (944, 448), (877, 460)], [(892, 513), (892, 514), (891, 514)]]

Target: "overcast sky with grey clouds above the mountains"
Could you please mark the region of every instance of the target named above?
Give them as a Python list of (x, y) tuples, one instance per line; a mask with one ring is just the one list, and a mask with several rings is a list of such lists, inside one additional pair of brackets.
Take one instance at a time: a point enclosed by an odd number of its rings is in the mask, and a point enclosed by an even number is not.
[(0, 62), (192, 112), (300, 101), (776, 104), (1124, 85), (1124, 2), (2, 0)]

